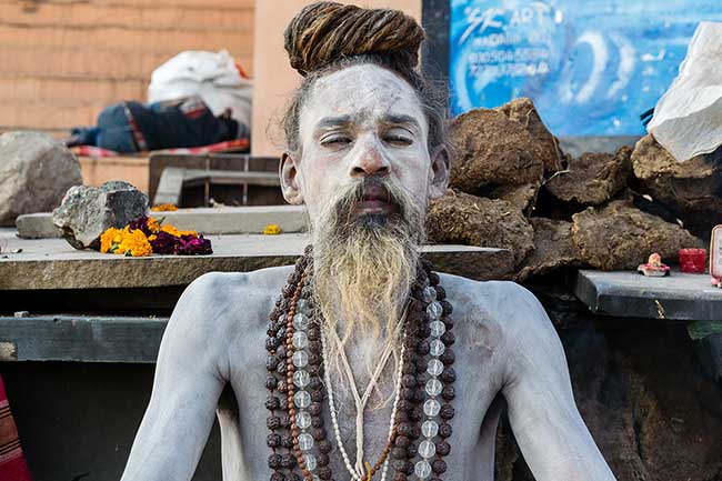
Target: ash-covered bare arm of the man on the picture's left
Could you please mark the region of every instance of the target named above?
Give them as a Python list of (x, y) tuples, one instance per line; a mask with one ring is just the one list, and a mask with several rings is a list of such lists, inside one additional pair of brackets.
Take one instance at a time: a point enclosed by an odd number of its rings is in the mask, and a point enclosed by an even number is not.
[(158, 354), (150, 403), (121, 481), (190, 480), (225, 384), (214, 274), (183, 292)]

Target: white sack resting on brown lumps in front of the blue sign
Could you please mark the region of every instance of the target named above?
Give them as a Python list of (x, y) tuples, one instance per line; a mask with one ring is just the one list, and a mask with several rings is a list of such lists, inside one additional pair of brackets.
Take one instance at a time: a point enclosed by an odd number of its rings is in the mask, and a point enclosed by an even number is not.
[(722, 23), (698, 26), (646, 128), (680, 162), (722, 144)]

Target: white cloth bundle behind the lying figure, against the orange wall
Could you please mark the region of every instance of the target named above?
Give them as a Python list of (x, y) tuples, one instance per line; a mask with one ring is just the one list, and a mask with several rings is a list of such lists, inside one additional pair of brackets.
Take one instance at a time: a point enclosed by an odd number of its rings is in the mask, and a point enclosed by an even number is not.
[(200, 96), (214, 116), (231, 109), (233, 119), (250, 129), (253, 83), (239, 73), (228, 51), (189, 50), (153, 70), (148, 87), (149, 103), (191, 96)]

